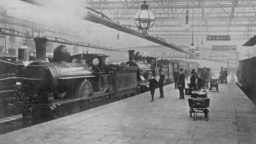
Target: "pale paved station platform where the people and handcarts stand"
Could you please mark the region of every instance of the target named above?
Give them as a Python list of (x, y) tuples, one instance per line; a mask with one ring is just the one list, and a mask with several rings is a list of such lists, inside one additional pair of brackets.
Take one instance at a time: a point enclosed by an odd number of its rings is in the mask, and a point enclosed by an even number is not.
[(189, 95), (178, 99), (174, 84), (158, 97), (158, 89), (153, 103), (150, 92), (136, 95), (0, 135), (0, 143), (256, 143), (256, 106), (235, 83), (208, 93), (208, 122), (190, 118)]

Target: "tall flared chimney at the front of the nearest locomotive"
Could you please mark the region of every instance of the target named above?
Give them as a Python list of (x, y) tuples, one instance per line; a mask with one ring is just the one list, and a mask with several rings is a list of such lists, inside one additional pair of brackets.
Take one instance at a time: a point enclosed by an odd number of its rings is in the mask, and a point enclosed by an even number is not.
[(34, 39), (36, 42), (36, 59), (37, 61), (46, 61), (46, 42), (45, 37), (37, 37)]

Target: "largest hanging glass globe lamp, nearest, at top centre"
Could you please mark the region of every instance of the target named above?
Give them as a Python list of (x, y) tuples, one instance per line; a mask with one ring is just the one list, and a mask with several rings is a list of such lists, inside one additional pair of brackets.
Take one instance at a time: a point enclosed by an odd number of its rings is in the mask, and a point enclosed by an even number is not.
[(135, 14), (135, 25), (142, 30), (142, 34), (145, 35), (149, 28), (153, 27), (155, 23), (154, 14), (148, 9), (149, 5), (146, 0), (141, 5), (141, 10)]

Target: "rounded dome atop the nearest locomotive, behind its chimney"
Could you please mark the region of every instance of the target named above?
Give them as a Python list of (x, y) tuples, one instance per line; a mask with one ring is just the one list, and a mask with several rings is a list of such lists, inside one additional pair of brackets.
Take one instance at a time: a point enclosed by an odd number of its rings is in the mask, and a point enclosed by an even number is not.
[(69, 52), (64, 45), (57, 46), (53, 51), (53, 62), (69, 62)]

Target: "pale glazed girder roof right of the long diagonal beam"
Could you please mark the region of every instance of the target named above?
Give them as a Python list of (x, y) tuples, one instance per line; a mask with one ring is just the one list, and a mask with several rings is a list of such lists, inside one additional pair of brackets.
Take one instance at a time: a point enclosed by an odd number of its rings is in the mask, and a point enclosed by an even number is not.
[[(91, 9), (100, 11), (112, 20), (135, 26), (134, 15), (141, 9), (142, 0), (92, 0)], [(239, 0), (147, 0), (155, 16), (150, 34), (167, 42), (181, 45), (191, 43), (192, 23), (194, 43), (206, 35), (230, 35), (231, 40), (245, 43), (255, 35), (256, 1)], [(190, 29), (185, 30), (186, 11)]]

